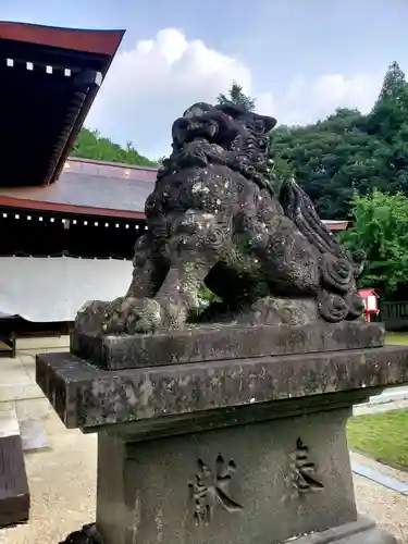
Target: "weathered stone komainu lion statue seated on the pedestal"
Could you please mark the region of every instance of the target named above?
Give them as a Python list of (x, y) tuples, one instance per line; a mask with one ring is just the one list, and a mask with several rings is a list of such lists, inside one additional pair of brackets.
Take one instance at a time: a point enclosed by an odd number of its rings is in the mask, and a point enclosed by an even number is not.
[[(76, 326), (101, 332), (182, 329), (206, 284), (231, 322), (302, 324), (354, 320), (364, 256), (347, 255), (294, 180), (280, 194), (269, 164), (276, 121), (235, 104), (196, 103), (172, 127), (173, 151), (146, 201), (127, 294), (89, 302)], [(87, 321), (88, 320), (88, 321)]]

